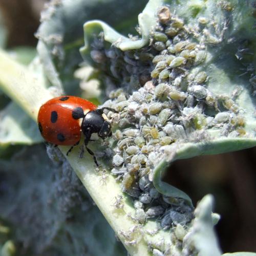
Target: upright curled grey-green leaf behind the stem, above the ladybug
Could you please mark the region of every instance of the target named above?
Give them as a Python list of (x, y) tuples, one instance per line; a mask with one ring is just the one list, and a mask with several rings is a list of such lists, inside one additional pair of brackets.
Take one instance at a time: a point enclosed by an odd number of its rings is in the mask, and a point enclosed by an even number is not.
[(62, 92), (63, 84), (67, 94), (79, 94), (78, 80), (74, 79), (73, 74), (82, 62), (79, 53), (83, 45), (81, 27), (87, 20), (102, 19), (121, 31), (131, 32), (146, 2), (75, 0), (50, 4), (50, 8), (42, 14), (42, 24), (37, 32), (37, 50), (52, 85)]

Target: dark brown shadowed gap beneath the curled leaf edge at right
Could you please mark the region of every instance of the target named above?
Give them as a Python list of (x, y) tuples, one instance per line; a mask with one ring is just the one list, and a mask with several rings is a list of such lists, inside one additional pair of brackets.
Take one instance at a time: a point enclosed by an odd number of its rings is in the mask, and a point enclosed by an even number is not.
[(256, 251), (256, 148), (176, 161), (164, 181), (185, 191), (194, 205), (215, 197), (216, 226), (224, 252)]

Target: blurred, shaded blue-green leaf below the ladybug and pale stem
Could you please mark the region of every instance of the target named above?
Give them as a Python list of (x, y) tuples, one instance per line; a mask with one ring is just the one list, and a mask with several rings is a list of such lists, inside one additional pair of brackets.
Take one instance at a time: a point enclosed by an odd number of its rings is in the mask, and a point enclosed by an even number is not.
[(0, 164), (0, 220), (9, 224), (0, 222), (1, 256), (13, 255), (15, 247), (28, 256), (126, 255), (58, 149), (48, 148), (47, 155), (43, 145), (23, 147)]

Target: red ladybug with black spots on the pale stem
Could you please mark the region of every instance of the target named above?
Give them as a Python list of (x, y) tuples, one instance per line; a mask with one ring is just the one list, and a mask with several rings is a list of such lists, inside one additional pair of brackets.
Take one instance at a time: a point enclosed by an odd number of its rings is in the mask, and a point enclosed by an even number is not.
[(40, 107), (37, 116), (38, 128), (46, 141), (55, 145), (71, 146), (67, 156), (79, 144), (83, 133), (84, 145), (99, 166), (87, 145), (92, 134), (97, 134), (103, 140), (112, 135), (111, 121), (103, 112), (105, 109), (117, 113), (111, 108), (98, 109), (92, 102), (79, 97), (56, 97)]

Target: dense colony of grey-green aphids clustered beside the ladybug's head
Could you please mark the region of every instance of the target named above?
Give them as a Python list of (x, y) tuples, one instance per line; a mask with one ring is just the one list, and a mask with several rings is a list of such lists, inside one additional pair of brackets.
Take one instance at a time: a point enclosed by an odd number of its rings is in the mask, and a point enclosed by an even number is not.
[(108, 81), (111, 99), (104, 106), (120, 111), (113, 120), (117, 143), (111, 173), (134, 198), (135, 219), (141, 224), (159, 217), (162, 228), (168, 228), (191, 219), (191, 209), (182, 200), (160, 195), (153, 185), (153, 169), (166, 147), (208, 139), (207, 130), (245, 135), (236, 97), (207, 88), (208, 76), (200, 64), (207, 59), (206, 44), (221, 40), (206, 32), (198, 36), (207, 24), (200, 17), (193, 30), (162, 7), (149, 46), (124, 52), (114, 46), (105, 49), (102, 37), (92, 45), (91, 56)]

